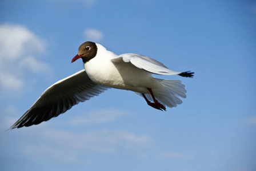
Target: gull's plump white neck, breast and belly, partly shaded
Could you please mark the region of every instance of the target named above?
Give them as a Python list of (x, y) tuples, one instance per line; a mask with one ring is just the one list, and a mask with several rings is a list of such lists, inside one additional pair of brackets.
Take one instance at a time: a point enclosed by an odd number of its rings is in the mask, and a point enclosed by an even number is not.
[(164, 88), (150, 72), (141, 70), (131, 63), (113, 62), (118, 55), (97, 44), (97, 55), (83, 63), (85, 71), (93, 82), (102, 86), (149, 93), (147, 88)]

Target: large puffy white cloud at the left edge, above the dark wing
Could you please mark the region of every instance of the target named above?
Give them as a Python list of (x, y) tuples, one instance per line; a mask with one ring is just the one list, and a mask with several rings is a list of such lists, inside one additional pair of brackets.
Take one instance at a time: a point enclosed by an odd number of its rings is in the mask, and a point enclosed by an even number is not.
[(25, 76), (52, 72), (35, 56), (45, 52), (46, 42), (22, 25), (0, 25), (0, 89), (15, 94), (24, 88)]

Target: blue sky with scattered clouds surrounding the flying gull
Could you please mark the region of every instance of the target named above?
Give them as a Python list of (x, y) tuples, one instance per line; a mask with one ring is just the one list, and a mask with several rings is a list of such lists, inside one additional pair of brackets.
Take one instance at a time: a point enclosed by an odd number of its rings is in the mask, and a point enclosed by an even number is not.
[[(255, 1), (0, 2), (0, 170), (256, 170)], [(109, 89), (39, 125), (6, 131), (88, 40), (175, 71), (187, 98), (158, 111)]]

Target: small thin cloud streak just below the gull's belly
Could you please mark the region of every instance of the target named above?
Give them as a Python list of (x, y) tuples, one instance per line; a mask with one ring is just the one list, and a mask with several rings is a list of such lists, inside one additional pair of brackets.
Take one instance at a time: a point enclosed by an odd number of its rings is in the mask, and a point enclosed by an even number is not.
[(125, 114), (126, 112), (118, 111), (117, 109), (104, 109), (87, 113), (85, 117), (75, 117), (69, 123), (71, 125), (108, 123), (117, 120), (118, 117)]

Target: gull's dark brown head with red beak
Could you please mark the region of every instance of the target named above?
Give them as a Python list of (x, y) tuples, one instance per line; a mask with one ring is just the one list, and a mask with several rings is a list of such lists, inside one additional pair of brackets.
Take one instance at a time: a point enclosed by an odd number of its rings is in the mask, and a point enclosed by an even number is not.
[(85, 42), (78, 48), (78, 54), (71, 60), (71, 63), (75, 60), (82, 58), (83, 63), (93, 59), (97, 54), (97, 45), (94, 42)]

